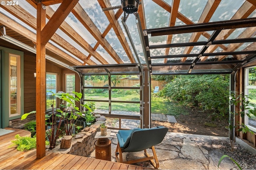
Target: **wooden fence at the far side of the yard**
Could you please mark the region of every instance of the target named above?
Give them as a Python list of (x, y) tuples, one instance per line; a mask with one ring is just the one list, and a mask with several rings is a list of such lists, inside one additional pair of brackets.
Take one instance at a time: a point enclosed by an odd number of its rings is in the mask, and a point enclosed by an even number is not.
[[(86, 84), (86, 86), (94, 86), (94, 87), (103, 87), (103, 86), (106, 86), (106, 84), (108, 84), (108, 82), (104, 82), (103, 80), (96, 83), (89, 80), (84, 80), (84, 83)], [(120, 80), (120, 82), (116, 85), (116, 87), (132, 87), (135, 84), (140, 84), (140, 80), (123, 79), (123, 80)], [(164, 85), (165, 85), (164, 81), (151, 80), (152, 89), (154, 89), (155, 86), (158, 86), (159, 90), (162, 90)]]

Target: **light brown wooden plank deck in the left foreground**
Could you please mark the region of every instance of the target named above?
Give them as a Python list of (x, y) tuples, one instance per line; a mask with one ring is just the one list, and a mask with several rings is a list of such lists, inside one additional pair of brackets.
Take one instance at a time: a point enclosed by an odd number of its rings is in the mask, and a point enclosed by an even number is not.
[(141, 166), (122, 164), (106, 160), (75, 156), (71, 154), (60, 154), (56, 152), (46, 152), (46, 156), (36, 159), (36, 149), (26, 152), (16, 150), (16, 147), (10, 148), (14, 135), (30, 135), (30, 132), (21, 129), (12, 133), (0, 136), (0, 169), (65, 169), (65, 170), (128, 170), (128, 169), (145, 169)]

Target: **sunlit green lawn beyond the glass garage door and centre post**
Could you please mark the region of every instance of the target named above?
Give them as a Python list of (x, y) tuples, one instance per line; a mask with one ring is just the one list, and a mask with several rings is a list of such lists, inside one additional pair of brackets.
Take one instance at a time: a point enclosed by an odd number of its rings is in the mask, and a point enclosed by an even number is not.
[[(116, 101), (140, 101), (140, 96), (138, 94), (118, 94), (112, 92), (112, 100)], [(93, 93), (85, 94), (86, 99), (92, 100), (108, 100), (108, 93)], [(96, 109), (108, 109), (108, 102), (96, 102)], [(121, 111), (140, 111), (140, 104), (130, 104), (130, 103), (112, 103), (112, 110)], [(180, 114), (188, 114), (188, 111), (178, 104), (170, 101), (166, 98), (157, 97), (152, 95), (151, 98), (151, 112), (152, 113), (163, 113), (167, 115), (178, 116)]]

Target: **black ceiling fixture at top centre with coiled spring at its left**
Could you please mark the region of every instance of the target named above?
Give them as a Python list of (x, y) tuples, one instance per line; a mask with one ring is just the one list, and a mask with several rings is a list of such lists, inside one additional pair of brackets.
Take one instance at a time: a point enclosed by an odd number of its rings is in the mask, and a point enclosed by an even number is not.
[(140, 0), (121, 0), (121, 5), (102, 8), (102, 11), (116, 10), (122, 8), (122, 10), (124, 11), (124, 21), (126, 21), (129, 14), (134, 14), (137, 18), (139, 4)]

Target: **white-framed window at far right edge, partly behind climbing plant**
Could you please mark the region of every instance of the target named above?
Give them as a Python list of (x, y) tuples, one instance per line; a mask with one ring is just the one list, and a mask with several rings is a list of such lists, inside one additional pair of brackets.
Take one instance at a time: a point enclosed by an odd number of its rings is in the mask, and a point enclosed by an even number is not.
[[(250, 102), (256, 103), (256, 66), (245, 69), (244, 80), (245, 95), (251, 98)], [(256, 117), (254, 115), (251, 115), (251, 117), (245, 115), (245, 124), (249, 127), (249, 129), (256, 132)]]

